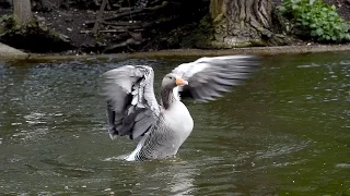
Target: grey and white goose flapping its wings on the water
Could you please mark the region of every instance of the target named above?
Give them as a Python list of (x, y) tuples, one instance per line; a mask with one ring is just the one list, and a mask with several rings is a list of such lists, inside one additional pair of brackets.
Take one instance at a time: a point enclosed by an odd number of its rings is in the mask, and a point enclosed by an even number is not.
[(194, 120), (180, 97), (206, 102), (243, 84), (258, 65), (255, 56), (200, 58), (183, 63), (163, 77), (161, 100), (154, 89), (154, 72), (148, 65), (124, 65), (102, 74), (112, 139), (139, 139), (127, 161), (174, 157), (194, 128)]

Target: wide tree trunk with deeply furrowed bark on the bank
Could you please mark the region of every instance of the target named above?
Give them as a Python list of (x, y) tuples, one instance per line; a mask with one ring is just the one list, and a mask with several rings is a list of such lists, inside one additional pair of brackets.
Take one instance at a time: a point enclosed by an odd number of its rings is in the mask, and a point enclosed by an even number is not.
[(211, 0), (213, 42), (219, 48), (265, 45), (271, 37), (271, 0)]

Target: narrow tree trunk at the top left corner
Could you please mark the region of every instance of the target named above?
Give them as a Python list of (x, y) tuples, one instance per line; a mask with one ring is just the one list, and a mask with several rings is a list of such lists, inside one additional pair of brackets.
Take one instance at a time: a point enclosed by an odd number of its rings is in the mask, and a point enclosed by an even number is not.
[(13, 16), (21, 26), (32, 20), (31, 0), (13, 0)]

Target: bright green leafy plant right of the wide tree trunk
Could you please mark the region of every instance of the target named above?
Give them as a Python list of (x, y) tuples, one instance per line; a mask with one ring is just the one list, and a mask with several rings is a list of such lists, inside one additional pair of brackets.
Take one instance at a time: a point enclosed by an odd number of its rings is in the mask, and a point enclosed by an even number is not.
[(339, 16), (335, 5), (322, 0), (284, 0), (279, 10), (292, 15), (318, 41), (350, 40), (349, 24)]

